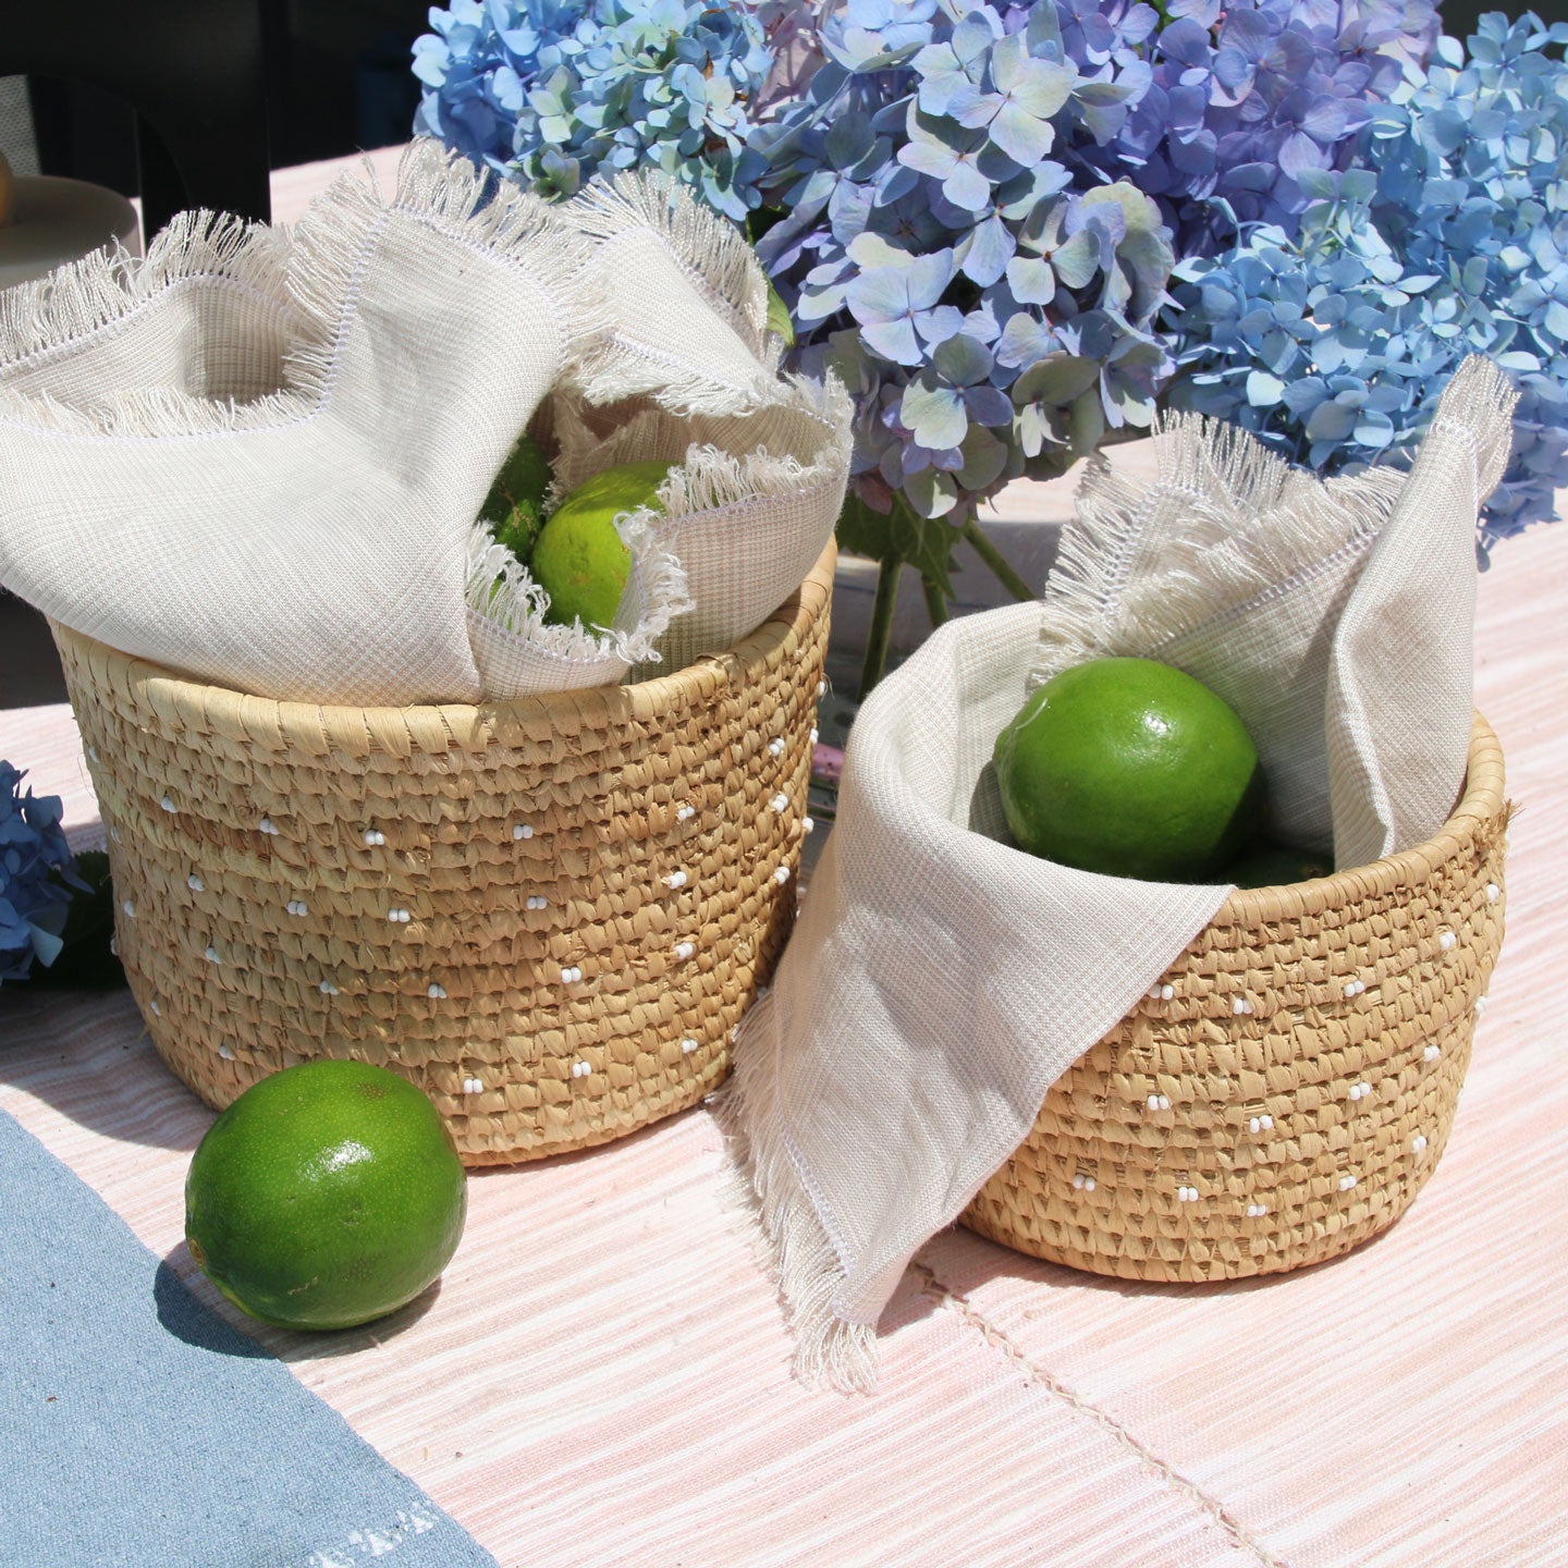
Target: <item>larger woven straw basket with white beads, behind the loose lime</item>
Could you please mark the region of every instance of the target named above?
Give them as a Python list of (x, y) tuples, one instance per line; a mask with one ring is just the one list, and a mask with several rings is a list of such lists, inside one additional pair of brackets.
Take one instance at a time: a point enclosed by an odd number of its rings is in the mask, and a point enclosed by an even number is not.
[(314, 707), (55, 626), (163, 1060), (419, 1083), (463, 1159), (604, 1143), (729, 1069), (789, 931), (833, 546), (715, 659), (480, 707)]

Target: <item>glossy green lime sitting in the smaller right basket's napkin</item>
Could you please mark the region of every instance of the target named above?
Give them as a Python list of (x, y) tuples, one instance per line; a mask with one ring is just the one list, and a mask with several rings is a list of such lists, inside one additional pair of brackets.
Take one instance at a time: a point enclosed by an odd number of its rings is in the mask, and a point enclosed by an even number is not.
[(1151, 659), (1063, 670), (994, 756), (1016, 842), (1107, 877), (1215, 880), (1264, 812), (1258, 750), (1234, 710)]

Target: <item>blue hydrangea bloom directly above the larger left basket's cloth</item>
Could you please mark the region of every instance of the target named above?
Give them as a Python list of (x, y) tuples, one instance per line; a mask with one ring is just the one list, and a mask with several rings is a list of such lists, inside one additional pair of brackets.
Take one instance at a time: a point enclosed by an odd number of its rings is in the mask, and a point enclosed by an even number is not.
[(773, 66), (751, 9), (704, 0), (453, 0), (414, 45), (416, 132), (569, 196), (652, 165), (734, 220), (757, 205), (748, 105)]

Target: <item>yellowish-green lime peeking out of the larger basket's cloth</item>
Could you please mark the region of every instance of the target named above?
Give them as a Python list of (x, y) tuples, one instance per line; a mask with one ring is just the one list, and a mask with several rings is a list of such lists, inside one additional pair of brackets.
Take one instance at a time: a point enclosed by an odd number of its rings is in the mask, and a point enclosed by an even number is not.
[(659, 508), (659, 486), (673, 464), (622, 463), (583, 480), (550, 513), (533, 547), (533, 580), (550, 596), (546, 619), (555, 626), (615, 624), (632, 552), (621, 543), (615, 519), (640, 506)]

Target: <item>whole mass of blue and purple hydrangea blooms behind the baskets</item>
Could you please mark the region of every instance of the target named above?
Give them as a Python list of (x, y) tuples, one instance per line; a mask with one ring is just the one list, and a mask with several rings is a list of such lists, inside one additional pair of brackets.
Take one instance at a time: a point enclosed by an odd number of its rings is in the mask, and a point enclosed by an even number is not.
[(453, 0), (431, 24), (419, 130), (546, 194), (654, 165), (748, 223), (895, 521), (963, 524), (1157, 398), (1378, 461), (1471, 351), (1524, 394), (1486, 538), (1568, 480), (1562, 24), (1488, 17), (1435, 63), (1433, 0)]

